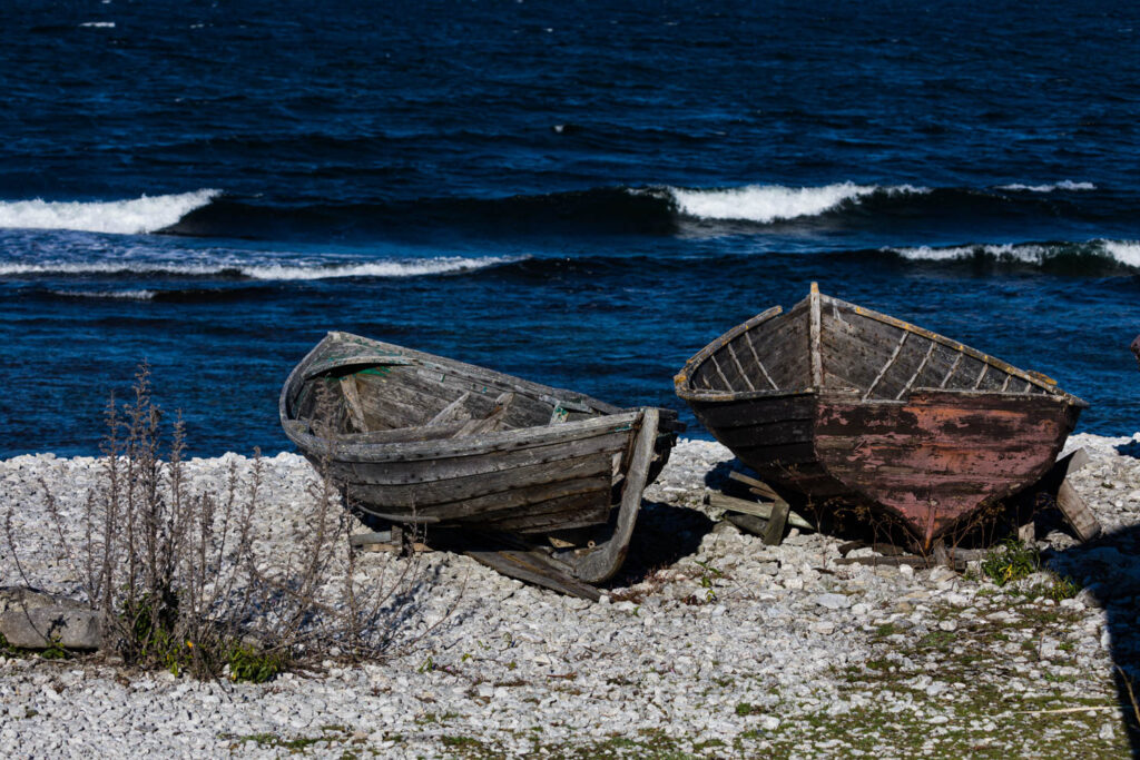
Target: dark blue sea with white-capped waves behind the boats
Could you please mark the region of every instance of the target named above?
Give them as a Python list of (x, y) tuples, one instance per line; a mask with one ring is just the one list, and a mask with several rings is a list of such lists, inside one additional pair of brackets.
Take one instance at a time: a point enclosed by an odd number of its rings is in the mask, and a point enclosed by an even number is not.
[(0, 9), (0, 456), (287, 448), (327, 329), (681, 408), (812, 280), (1140, 427), (1134, 3), (195, 5)]

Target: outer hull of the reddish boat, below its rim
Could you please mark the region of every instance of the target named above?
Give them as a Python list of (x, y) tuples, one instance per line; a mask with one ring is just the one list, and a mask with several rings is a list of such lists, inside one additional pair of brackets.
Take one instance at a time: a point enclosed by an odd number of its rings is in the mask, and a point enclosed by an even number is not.
[(1080, 411), (1057, 397), (959, 392), (905, 402), (803, 392), (693, 409), (784, 498), (824, 510), (871, 507), (925, 547), (1040, 480)]

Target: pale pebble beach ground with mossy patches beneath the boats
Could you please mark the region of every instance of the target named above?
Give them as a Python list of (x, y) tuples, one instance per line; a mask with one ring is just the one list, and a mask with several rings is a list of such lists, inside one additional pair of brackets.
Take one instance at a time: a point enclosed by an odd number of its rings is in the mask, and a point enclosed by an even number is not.
[[(1017, 583), (997, 587), (976, 566), (838, 564), (844, 539), (807, 531), (766, 547), (701, 504), (732, 455), (682, 441), (601, 603), (429, 553), (415, 559), (423, 583), (401, 641), (381, 662), (245, 685), (0, 654), (0, 754), (1129, 757), (1140, 434), (1076, 435), (1076, 447), (1091, 461), (1074, 485), (1107, 536), (1080, 546), (1042, 514), (1049, 570)], [(227, 455), (189, 472), (209, 483), (231, 461), (249, 469)], [(264, 464), (258, 526), (284, 546), (303, 529), (312, 471), (291, 453)], [(75, 593), (40, 479), (78, 515), (96, 465), (0, 461), (0, 515), (13, 513), (32, 585)], [(410, 561), (360, 562), (378, 579)], [(1083, 590), (1050, 593), (1054, 572)], [(0, 579), (23, 582), (7, 550)]]

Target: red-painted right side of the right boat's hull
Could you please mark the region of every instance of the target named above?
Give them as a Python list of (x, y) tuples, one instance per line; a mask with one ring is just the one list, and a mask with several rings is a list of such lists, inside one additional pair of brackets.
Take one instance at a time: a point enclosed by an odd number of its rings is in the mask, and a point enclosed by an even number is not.
[(929, 546), (983, 504), (1040, 479), (1074, 423), (1057, 397), (920, 392), (883, 403), (824, 395), (816, 452), (854, 500), (901, 516)]

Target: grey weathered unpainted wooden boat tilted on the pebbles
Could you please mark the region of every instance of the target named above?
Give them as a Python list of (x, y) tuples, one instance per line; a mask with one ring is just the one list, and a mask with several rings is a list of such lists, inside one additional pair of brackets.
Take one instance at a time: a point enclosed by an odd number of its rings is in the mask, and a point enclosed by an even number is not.
[(545, 541), (551, 567), (588, 583), (620, 566), (642, 490), (683, 430), (670, 410), (335, 332), (293, 369), (279, 412), (364, 512)]

